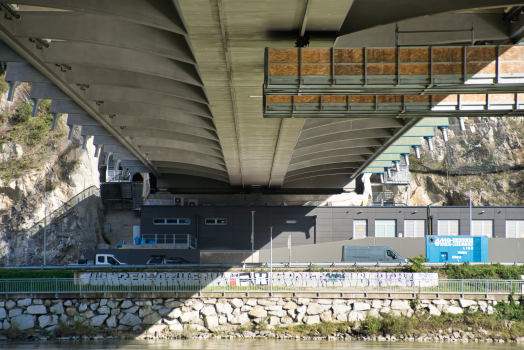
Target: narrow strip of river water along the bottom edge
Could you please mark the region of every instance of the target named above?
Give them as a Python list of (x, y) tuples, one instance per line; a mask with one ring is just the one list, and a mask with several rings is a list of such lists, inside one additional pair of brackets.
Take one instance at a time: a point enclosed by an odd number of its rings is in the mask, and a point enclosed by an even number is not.
[(523, 350), (516, 343), (406, 343), (361, 341), (296, 341), (296, 340), (135, 340), (135, 341), (39, 341), (0, 342), (0, 349), (125, 349), (125, 350)]

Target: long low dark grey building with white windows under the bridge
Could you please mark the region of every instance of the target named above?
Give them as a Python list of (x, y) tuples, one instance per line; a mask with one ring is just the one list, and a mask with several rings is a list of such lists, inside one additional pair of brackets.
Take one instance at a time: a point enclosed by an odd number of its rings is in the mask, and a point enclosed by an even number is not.
[[(360, 238), (469, 235), (469, 207), (142, 206), (141, 234), (191, 234), (202, 250), (255, 250)], [(471, 234), (524, 238), (524, 207), (473, 207)], [(524, 241), (523, 241), (524, 242)], [(337, 252), (338, 254), (338, 252)]]

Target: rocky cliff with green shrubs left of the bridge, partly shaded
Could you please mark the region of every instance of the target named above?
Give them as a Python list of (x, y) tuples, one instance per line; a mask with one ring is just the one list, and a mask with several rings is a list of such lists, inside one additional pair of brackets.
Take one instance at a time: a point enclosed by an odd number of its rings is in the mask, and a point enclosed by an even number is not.
[(43, 264), (46, 214), (47, 264), (67, 264), (101, 241), (98, 159), (66, 117), (50, 130), (49, 102), (30, 116), (29, 89), (0, 96), (0, 264)]

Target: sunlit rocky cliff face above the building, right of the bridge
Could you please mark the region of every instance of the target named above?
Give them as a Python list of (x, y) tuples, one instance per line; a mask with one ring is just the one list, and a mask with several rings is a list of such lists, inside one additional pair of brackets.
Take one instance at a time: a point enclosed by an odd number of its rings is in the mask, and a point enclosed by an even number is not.
[(524, 118), (469, 118), (466, 131), (451, 119), (449, 142), (437, 130), (435, 149), (410, 157), (410, 204), (468, 205), (472, 187), (473, 205), (524, 205)]

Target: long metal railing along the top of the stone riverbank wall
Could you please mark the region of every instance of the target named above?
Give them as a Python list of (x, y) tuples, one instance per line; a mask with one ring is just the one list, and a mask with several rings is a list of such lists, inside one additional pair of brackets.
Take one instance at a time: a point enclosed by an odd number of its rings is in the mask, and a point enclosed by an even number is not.
[[(162, 277), (161, 277), (162, 276)], [(437, 280), (437, 279), (337, 279), (337, 278), (272, 278), (255, 274), (251, 278), (98, 278), (86, 274), (81, 278), (2, 279), (0, 294), (52, 293), (329, 293), (516, 295), (523, 294), (524, 280)]]

